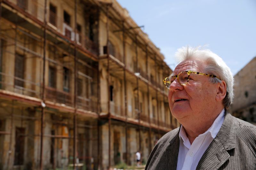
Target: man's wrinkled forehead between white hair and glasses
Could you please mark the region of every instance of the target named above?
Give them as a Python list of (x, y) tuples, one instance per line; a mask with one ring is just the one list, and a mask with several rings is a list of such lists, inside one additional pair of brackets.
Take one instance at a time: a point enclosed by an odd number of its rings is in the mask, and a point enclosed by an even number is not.
[(173, 70), (171, 76), (178, 75), (182, 71), (196, 71), (196, 72), (202, 72), (203, 71), (203, 62), (198, 60), (184, 60), (181, 63), (179, 63), (176, 68)]

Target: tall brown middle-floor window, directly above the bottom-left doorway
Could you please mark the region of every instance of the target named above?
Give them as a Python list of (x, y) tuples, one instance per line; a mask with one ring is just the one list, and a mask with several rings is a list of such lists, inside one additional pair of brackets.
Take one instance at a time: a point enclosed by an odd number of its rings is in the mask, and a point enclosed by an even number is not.
[(24, 87), (24, 55), (16, 53), (15, 56), (15, 72), (14, 72), (14, 85)]

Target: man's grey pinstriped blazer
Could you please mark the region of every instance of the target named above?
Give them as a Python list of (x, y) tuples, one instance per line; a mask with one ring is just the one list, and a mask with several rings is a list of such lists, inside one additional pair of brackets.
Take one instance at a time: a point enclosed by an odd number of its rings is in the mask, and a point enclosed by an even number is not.
[[(176, 169), (180, 128), (166, 133), (150, 153), (146, 170)], [(225, 113), (219, 133), (196, 169), (256, 170), (256, 126)]]

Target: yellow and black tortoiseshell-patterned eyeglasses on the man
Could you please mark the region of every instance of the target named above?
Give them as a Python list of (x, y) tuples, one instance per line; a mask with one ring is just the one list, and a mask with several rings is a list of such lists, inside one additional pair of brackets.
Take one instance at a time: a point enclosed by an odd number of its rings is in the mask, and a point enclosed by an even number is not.
[(178, 74), (176, 76), (169, 76), (167, 78), (164, 78), (163, 82), (164, 82), (165, 87), (167, 89), (170, 89), (170, 86), (171, 86), (172, 82), (175, 80), (175, 78), (178, 79), (178, 82), (180, 83), (180, 85), (186, 85), (189, 81), (190, 73), (199, 74), (199, 75), (208, 76), (208, 77), (213, 77), (213, 78), (219, 78), (219, 77), (217, 77), (215, 75), (212, 75), (212, 74), (199, 73), (199, 72), (195, 72), (195, 71), (191, 71), (191, 70), (182, 71), (182, 72), (180, 72), (180, 74)]

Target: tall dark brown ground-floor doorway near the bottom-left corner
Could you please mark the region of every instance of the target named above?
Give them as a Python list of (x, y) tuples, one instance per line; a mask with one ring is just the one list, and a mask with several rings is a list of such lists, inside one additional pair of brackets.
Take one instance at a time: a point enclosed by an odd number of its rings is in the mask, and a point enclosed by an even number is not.
[(16, 127), (14, 165), (23, 165), (24, 147), (25, 147), (25, 128)]

